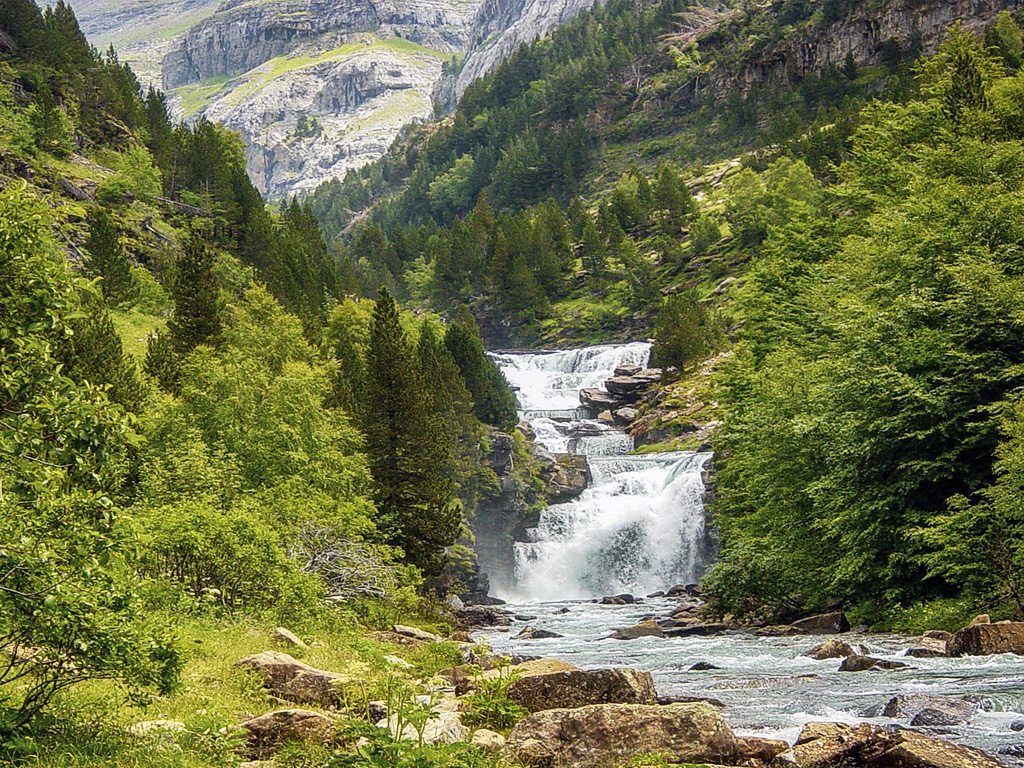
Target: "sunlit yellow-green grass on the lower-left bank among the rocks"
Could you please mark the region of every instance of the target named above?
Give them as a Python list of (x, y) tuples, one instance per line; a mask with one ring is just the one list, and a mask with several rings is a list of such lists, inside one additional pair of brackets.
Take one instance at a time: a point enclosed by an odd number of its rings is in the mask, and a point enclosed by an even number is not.
[[(343, 674), (342, 697), (353, 715), (365, 712), (370, 700), (386, 698), (388, 686), (415, 686), (436, 670), (451, 667), (458, 656), (455, 646), (447, 643), (411, 650), (370, 639), (365, 630), (340, 614), (292, 628), (312, 644), (306, 651), (275, 648), (270, 642), (273, 624), (255, 618), (233, 621), (178, 612), (158, 613), (157, 618), (175, 628), (186, 657), (178, 690), (143, 701), (106, 681), (80, 684), (62, 694), (48, 722), (17, 745), (25, 764), (39, 768), (237, 765), (241, 762), (236, 753), (238, 740), (229, 735), (233, 725), (293, 707), (328, 712), (312, 705), (275, 700), (252, 676), (234, 668), (244, 656), (264, 650), (284, 650), (317, 669)], [(395, 665), (389, 655), (407, 658), (413, 669)], [(144, 738), (129, 734), (131, 725), (152, 720), (178, 721), (186, 731)], [(275, 764), (319, 768), (330, 754), (323, 746), (296, 743), (283, 750)], [(6, 765), (2, 756), (0, 764)]]

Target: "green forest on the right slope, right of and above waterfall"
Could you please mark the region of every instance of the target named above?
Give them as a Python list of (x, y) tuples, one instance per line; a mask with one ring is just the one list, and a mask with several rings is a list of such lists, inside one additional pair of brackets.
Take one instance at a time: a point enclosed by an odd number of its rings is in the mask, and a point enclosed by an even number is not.
[(310, 207), (362, 283), (497, 315), (497, 343), (653, 333), (677, 375), (728, 348), (720, 614), (1018, 615), (1018, 20), (696, 83), (853, 9), (737, 10), (684, 45), (684, 6), (610, 2)]

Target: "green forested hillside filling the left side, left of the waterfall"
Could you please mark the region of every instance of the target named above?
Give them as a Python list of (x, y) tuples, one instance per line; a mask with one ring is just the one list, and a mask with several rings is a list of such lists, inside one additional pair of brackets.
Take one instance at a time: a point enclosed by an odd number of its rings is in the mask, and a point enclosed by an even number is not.
[[(344, 264), (66, 3), (0, 3), (0, 762), (231, 762), (265, 695), (197, 669), (279, 624), (371, 686), (452, 665), (388, 675), (364, 635), (470, 589), (514, 398), (471, 315), (347, 295)], [(155, 701), (176, 756), (124, 730)]]

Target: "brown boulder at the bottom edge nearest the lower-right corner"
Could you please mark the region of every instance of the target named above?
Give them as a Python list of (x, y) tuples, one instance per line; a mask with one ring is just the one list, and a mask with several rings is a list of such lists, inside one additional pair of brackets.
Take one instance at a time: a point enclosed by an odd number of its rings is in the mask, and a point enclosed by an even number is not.
[(970, 746), (906, 730), (873, 725), (808, 723), (792, 750), (772, 768), (998, 768), (999, 763)]

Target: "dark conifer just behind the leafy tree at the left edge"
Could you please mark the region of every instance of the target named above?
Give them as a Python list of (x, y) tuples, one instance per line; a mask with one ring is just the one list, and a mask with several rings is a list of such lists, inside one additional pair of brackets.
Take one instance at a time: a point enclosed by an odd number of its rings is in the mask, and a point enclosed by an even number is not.
[(83, 316), (71, 324), (73, 336), (66, 354), (66, 373), (77, 382), (106, 386), (113, 402), (139, 413), (145, 387), (133, 360), (125, 353), (106, 305), (96, 297), (83, 300)]

